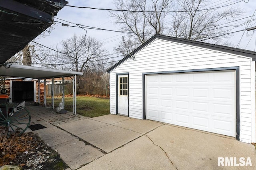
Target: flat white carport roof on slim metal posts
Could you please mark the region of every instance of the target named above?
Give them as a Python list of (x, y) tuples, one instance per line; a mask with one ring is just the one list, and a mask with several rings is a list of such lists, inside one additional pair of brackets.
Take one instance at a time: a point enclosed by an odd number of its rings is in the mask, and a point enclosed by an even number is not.
[(32, 67), (28, 65), (12, 64), (10, 65), (10, 68), (0, 66), (0, 75), (11, 77), (26, 77), (34, 79), (48, 79), (62, 76), (67, 77), (73, 75), (83, 75), (83, 73), (77, 71), (66, 71), (41, 67)]

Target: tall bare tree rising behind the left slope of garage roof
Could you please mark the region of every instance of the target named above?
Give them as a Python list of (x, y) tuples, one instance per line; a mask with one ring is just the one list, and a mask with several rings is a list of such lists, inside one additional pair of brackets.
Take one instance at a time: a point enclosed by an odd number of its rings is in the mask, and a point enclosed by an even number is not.
[[(140, 43), (146, 42), (154, 34), (162, 34), (164, 30), (163, 20), (173, 0), (115, 0), (116, 9), (121, 12), (110, 12), (110, 16), (116, 18), (116, 24), (120, 24), (122, 30), (136, 35)], [(128, 10), (128, 11), (124, 11)], [(145, 12), (151, 11), (151, 12)]]

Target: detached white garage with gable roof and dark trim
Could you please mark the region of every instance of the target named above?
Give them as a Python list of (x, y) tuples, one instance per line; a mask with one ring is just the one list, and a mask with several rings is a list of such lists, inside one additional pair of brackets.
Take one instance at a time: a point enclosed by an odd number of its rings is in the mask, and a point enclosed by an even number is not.
[(110, 113), (256, 142), (256, 52), (155, 35), (114, 66)]

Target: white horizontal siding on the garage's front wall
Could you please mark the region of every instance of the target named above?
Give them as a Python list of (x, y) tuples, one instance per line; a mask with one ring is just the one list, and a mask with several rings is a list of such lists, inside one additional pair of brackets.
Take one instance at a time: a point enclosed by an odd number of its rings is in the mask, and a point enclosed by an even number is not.
[(255, 142), (255, 62), (249, 57), (156, 39), (110, 73), (110, 113), (116, 114), (116, 73), (129, 73), (129, 116), (142, 119), (142, 73), (240, 67), (240, 140)]

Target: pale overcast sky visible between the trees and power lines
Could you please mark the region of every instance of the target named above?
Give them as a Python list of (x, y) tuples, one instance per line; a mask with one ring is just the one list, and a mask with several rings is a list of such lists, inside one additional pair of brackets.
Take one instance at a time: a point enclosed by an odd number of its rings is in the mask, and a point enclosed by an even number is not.
[[(212, 0), (212, 2), (225, 2), (225, 1), (237, 2), (239, 0)], [(93, 7), (93, 8), (111, 8), (111, 9), (115, 8), (114, 4), (112, 3), (113, 0), (72, 0), (72, 1), (68, 0), (68, 2), (69, 2), (68, 5), (73, 5), (73, 6), (86, 6), (86, 7)], [(241, 16), (241, 18), (252, 16), (254, 14), (254, 11), (256, 10), (255, 0), (245, 0), (245, 2), (242, 1), (234, 5), (234, 7), (238, 7), (238, 6), (244, 11), (244, 15)], [(256, 15), (256, 12), (254, 15)], [(75, 24), (82, 24), (86, 26), (104, 28), (108, 30), (120, 30), (118, 28), (119, 26), (116, 26), (115, 24), (113, 24), (114, 18), (109, 17), (109, 12), (107, 10), (92, 10), (92, 9), (86, 9), (86, 8), (72, 8), (72, 7), (65, 6), (62, 10), (58, 12), (58, 15), (54, 19), (55, 21), (64, 22), (64, 21), (58, 20), (57, 18), (60, 18), (62, 20), (66, 20)], [(247, 19), (244, 19), (243, 21), (246, 22), (247, 20), (250, 20), (250, 19), (251, 18), (247, 18)], [(254, 19), (254, 21), (250, 23), (251, 25), (249, 25), (248, 28), (256, 26), (256, 21), (255, 21), (256, 16), (253, 16), (252, 19)], [(68, 22), (64, 22), (64, 23), (70, 24)], [(56, 24), (58, 23), (56, 22)], [(70, 24), (70, 25), (74, 26), (74, 24)], [(81, 28), (65, 27), (61, 25), (54, 25), (53, 28), (54, 29), (51, 30), (50, 34), (47, 34), (48, 36), (44, 38), (40, 37), (37, 40), (37, 42), (45, 46), (54, 48), (56, 44), (60, 43), (62, 40), (71, 38), (74, 34), (78, 36), (85, 34), (85, 30)], [(236, 28), (231, 32), (243, 30), (243, 29), (245, 29), (245, 26)], [(236, 45), (242, 38), (242, 41), (240, 42), (240, 45), (238, 48), (254, 51), (255, 44), (256, 44), (256, 34), (254, 34), (254, 32), (256, 32), (256, 30), (254, 31), (252, 30), (250, 32), (246, 31), (246, 32), (236, 33), (228, 41), (231, 42), (236, 47)], [(244, 35), (242, 36), (243, 33)], [(113, 47), (116, 46), (118, 42), (120, 42), (120, 39), (123, 35), (124, 34), (118, 33), (118, 32), (87, 29), (87, 36), (94, 37), (97, 40), (102, 41), (104, 43), (104, 47), (108, 49), (110, 54), (114, 53)]]

